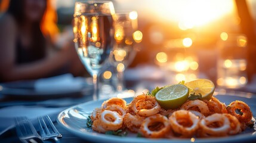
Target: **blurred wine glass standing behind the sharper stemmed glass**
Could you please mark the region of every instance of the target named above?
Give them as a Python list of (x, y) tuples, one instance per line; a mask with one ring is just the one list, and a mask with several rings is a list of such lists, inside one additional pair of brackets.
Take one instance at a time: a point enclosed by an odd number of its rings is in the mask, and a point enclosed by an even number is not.
[(118, 71), (118, 93), (124, 92), (124, 71), (134, 59), (136, 43), (141, 42), (142, 33), (137, 30), (137, 12), (119, 12), (115, 14), (115, 45), (110, 55), (112, 63)]

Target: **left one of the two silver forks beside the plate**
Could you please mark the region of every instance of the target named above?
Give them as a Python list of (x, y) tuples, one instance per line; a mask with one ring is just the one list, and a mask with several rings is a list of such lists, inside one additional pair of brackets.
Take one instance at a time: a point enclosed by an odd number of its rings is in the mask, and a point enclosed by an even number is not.
[(27, 119), (27, 117), (16, 117), (15, 123), (16, 132), (21, 142), (42, 142), (41, 136), (38, 135), (35, 127), (32, 125), (29, 119)]

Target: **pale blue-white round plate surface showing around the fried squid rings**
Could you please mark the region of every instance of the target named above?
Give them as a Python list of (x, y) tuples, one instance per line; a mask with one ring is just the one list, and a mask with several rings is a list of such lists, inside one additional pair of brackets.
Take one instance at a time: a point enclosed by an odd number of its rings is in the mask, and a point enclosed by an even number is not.
[[(241, 100), (246, 102), (254, 113), (256, 114), (256, 98), (238, 97), (233, 95), (217, 95), (217, 98), (229, 104), (235, 100)], [(131, 102), (132, 98), (126, 98), (127, 102)], [(67, 108), (58, 114), (57, 121), (63, 126), (64, 129), (77, 135), (87, 141), (92, 142), (191, 142), (189, 139), (147, 139), (137, 138), (136, 134), (129, 133), (128, 136), (112, 136), (105, 135), (103, 133), (97, 133), (87, 128), (87, 117), (91, 114), (92, 110), (97, 107), (101, 107), (103, 100), (90, 101), (84, 104), (79, 104), (74, 107)], [(255, 127), (255, 126), (254, 126)], [(223, 138), (195, 138), (195, 142), (245, 142), (256, 141), (255, 129), (246, 129), (242, 133), (234, 136), (228, 136)]]

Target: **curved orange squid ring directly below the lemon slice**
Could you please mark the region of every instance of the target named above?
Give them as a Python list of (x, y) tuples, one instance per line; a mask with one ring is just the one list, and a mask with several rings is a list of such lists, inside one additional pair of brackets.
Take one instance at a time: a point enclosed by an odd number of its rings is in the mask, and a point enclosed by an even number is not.
[(204, 116), (209, 114), (207, 104), (201, 100), (190, 100), (181, 105), (181, 109), (199, 111)]

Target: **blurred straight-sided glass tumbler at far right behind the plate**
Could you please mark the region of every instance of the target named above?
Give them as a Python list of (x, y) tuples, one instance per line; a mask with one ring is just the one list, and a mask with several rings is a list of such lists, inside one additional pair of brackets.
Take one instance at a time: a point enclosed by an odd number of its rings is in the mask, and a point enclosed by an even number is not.
[(246, 44), (245, 35), (221, 33), (217, 61), (218, 86), (241, 88), (246, 85)]

